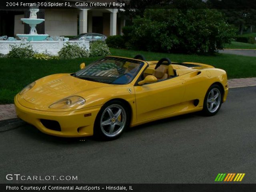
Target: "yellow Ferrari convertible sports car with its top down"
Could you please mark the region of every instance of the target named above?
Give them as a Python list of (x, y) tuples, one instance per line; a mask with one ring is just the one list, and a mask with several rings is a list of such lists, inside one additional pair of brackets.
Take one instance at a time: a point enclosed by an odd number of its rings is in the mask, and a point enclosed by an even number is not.
[(26, 86), (14, 98), (17, 116), (46, 134), (112, 140), (162, 118), (212, 116), (228, 94), (226, 72), (206, 64), (106, 56), (80, 68)]

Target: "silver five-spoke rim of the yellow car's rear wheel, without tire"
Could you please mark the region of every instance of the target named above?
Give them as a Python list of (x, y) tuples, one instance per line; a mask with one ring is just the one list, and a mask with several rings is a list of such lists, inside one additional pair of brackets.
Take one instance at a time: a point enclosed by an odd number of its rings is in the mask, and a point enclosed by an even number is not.
[(207, 108), (209, 112), (214, 113), (220, 107), (221, 93), (218, 88), (213, 88), (207, 96)]

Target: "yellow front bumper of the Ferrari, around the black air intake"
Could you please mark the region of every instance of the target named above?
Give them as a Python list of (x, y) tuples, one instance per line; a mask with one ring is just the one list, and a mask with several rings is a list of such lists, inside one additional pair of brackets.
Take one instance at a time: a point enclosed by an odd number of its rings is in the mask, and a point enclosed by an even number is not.
[[(22, 106), (14, 98), (16, 114), (22, 120), (34, 125), (41, 132), (60, 137), (92, 136), (96, 116), (102, 106), (73, 110), (68, 112), (40, 111)], [(54, 120), (60, 124), (61, 131), (46, 128), (41, 119)]]

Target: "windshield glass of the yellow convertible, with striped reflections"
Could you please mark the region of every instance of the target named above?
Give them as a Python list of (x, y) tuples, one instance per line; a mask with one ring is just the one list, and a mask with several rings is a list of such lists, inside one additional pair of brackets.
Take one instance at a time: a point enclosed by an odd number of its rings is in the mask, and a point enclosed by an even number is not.
[(74, 76), (107, 84), (128, 84), (143, 65), (144, 62), (133, 59), (105, 57), (76, 72)]

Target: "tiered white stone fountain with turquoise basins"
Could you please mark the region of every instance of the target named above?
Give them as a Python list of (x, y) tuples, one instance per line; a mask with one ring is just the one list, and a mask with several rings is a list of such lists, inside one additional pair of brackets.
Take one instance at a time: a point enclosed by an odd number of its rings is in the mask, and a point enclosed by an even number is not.
[(48, 37), (47, 34), (37, 34), (36, 25), (44, 22), (44, 19), (38, 19), (36, 13), (39, 11), (38, 8), (30, 8), (30, 17), (29, 18), (22, 18), (21, 20), (29, 24), (30, 26), (30, 33), (29, 34), (16, 34), (20, 39), (23, 37), (27, 37), (28, 41), (42, 41)]

